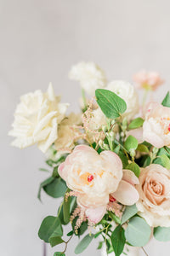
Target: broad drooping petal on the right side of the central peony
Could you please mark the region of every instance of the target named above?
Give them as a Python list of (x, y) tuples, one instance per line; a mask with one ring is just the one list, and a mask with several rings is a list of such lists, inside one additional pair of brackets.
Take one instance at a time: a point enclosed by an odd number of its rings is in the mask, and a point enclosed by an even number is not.
[(119, 183), (118, 189), (116, 192), (111, 194), (116, 201), (122, 203), (125, 206), (132, 206), (134, 203), (139, 201), (139, 193), (138, 191), (126, 181), (122, 180)]

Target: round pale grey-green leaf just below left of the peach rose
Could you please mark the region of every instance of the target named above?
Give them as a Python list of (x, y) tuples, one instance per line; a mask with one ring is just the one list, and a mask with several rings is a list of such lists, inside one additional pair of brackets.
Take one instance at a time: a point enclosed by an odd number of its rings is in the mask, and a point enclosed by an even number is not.
[(144, 218), (134, 216), (130, 219), (125, 236), (133, 247), (144, 247), (150, 240), (151, 229)]

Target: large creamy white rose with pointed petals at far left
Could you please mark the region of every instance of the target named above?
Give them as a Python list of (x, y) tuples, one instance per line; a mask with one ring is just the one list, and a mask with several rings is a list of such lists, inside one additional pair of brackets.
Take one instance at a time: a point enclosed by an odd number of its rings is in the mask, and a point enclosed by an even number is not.
[(65, 117), (68, 104), (59, 103), (52, 84), (48, 91), (36, 90), (20, 97), (14, 113), (13, 130), (9, 135), (16, 137), (13, 146), (26, 148), (37, 143), (45, 153), (58, 137), (58, 125)]

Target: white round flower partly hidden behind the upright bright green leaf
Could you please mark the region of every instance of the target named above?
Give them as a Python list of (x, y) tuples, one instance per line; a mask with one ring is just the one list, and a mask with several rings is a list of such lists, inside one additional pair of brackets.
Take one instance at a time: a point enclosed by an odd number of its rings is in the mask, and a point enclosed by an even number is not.
[(117, 96), (120, 96), (127, 103), (127, 110), (122, 114), (122, 117), (130, 120), (139, 112), (139, 97), (133, 85), (126, 81), (116, 80), (108, 84), (105, 89), (115, 92)]

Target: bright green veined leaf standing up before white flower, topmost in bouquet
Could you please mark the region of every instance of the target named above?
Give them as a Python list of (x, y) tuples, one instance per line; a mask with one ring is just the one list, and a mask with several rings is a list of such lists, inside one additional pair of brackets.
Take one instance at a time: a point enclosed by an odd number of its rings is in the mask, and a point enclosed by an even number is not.
[(116, 119), (127, 109), (127, 104), (111, 90), (97, 89), (95, 96), (99, 107), (109, 119)]

